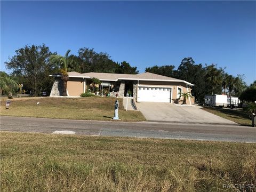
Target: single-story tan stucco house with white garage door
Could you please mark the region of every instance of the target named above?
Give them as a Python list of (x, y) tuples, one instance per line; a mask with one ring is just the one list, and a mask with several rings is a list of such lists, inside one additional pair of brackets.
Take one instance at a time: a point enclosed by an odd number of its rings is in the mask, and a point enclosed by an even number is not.
[[(87, 89), (90, 89), (91, 78), (100, 79), (99, 92), (108, 89), (111, 97), (125, 97), (130, 93), (137, 102), (171, 102), (180, 97), (179, 92), (191, 92), (191, 84), (181, 79), (156, 75), (153, 73), (132, 74), (110, 74), (110, 73), (84, 73), (69, 72), (67, 83), (68, 96), (79, 97)], [(62, 83), (60, 75), (55, 77), (50, 97), (61, 96)], [(182, 99), (182, 98), (181, 98)], [(194, 98), (187, 100), (188, 104), (194, 103)]]

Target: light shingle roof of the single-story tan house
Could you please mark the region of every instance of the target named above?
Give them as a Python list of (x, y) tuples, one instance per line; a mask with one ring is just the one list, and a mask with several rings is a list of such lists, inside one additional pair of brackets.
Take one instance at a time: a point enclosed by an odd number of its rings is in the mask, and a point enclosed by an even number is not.
[(111, 73), (77, 73), (75, 71), (68, 72), (69, 77), (84, 77), (84, 78), (98, 78), (101, 81), (118, 81), (118, 79), (124, 80), (140, 80), (140, 81), (169, 81), (169, 82), (183, 82), (188, 85), (193, 85), (189, 82), (181, 79), (166, 77), (163, 75), (157, 75), (153, 73), (142, 73), (142, 74), (111, 74)]

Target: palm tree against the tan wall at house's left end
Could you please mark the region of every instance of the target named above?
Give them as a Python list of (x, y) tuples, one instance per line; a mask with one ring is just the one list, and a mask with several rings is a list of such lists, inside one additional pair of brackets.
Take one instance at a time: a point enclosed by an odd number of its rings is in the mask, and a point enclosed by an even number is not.
[(69, 63), (71, 62), (71, 59), (68, 57), (69, 52), (70, 50), (66, 52), (65, 57), (62, 57), (61, 55), (51, 55), (51, 58), (50, 58), (50, 60), (53, 63), (60, 65), (61, 80), (63, 82), (62, 96), (67, 96), (67, 83), (69, 80), (68, 66), (69, 66)]

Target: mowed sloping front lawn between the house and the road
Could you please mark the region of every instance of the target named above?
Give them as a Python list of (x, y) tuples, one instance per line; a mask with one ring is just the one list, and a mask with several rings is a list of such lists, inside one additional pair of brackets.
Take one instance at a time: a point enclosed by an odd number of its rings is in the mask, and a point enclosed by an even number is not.
[[(1, 115), (113, 121), (115, 100), (111, 97), (21, 98), (10, 99), (10, 108), (5, 109), (6, 99), (1, 99)], [(123, 100), (118, 100), (121, 121), (146, 120), (140, 111), (125, 111)]]

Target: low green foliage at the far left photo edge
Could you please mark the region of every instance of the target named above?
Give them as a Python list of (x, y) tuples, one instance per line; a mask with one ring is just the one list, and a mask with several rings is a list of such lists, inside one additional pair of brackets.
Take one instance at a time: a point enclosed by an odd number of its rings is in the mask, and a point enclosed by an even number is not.
[(0, 71), (0, 95), (9, 95), (9, 93), (17, 92), (18, 89), (19, 84), (4, 71)]

